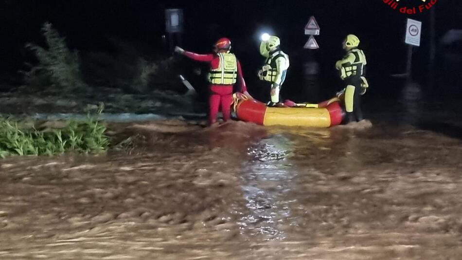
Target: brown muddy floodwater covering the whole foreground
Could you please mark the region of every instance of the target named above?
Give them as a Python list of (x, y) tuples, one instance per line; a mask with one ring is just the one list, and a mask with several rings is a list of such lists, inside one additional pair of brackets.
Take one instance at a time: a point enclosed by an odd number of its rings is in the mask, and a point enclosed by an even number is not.
[(0, 259), (461, 259), (459, 139), (367, 123), (111, 128), (136, 146), (0, 162)]

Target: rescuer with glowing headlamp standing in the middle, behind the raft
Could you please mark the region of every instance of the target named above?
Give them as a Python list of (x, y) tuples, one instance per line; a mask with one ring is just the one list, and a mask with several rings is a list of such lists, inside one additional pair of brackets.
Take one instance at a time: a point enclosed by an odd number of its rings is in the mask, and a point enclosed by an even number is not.
[(260, 80), (271, 83), (271, 101), (269, 107), (284, 106), (280, 103), (280, 91), (289, 68), (289, 56), (281, 51), (279, 37), (270, 36), (260, 44), (260, 54), (266, 57), (265, 64), (258, 72)]

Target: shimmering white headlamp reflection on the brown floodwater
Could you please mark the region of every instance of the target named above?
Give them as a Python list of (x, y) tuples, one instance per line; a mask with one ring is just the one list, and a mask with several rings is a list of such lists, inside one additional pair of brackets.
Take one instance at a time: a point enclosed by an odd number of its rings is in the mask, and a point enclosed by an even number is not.
[(290, 217), (286, 194), (297, 173), (291, 170), (293, 143), (284, 134), (276, 134), (248, 149), (253, 160), (244, 166), (242, 189), (248, 214), (241, 218), (241, 233), (265, 235), (266, 240), (287, 237), (284, 225)]

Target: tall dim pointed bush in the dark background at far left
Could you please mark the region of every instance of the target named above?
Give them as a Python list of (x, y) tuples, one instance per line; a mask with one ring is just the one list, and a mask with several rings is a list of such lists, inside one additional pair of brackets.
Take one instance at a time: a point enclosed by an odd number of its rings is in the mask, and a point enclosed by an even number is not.
[[(61, 37), (49, 22), (42, 27), (47, 47), (28, 43), (26, 48), (36, 55), (38, 63), (24, 74), (24, 80), (35, 87), (59, 87), (68, 90), (87, 87), (80, 77), (80, 58), (76, 51), (66, 45), (66, 38)], [(57, 88), (56, 88), (57, 89)]]

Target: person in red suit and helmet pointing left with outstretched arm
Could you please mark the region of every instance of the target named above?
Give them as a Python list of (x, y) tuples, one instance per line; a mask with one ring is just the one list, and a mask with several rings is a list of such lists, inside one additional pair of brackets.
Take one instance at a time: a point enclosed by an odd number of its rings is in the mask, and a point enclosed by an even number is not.
[(210, 63), (210, 71), (208, 81), (210, 83), (210, 117), (209, 125), (217, 123), (217, 113), (221, 107), (223, 119), (228, 121), (231, 119), (231, 103), (233, 85), (241, 82), (241, 92), (252, 98), (247, 92), (246, 82), (242, 75), (241, 64), (236, 56), (231, 53), (231, 41), (228, 38), (220, 38), (214, 45), (214, 54), (200, 55), (192, 52), (187, 52), (180, 47), (175, 47), (175, 52), (182, 54), (196, 61)]

